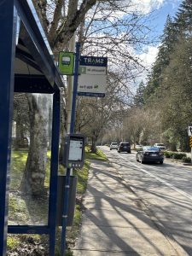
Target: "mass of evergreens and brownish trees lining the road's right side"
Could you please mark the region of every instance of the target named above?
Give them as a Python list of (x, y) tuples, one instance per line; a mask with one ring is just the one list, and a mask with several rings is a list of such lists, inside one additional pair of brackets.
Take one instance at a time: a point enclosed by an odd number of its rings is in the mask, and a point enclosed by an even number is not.
[(137, 84), (137, 92), (119, 118), (106, 129), (102, 143), (164, 143), (170, 151), (189, 152), (191, 117), (192, 2), (181, 1), (174, 17), (166, 18), (158, 55), (148, 79)]

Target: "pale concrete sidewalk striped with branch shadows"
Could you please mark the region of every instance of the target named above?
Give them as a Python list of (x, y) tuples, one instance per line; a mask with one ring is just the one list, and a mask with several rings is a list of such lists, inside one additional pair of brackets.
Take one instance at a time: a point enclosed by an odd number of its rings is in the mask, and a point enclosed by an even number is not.
[(93, 161), (74, 256), (186, 255), (107, 162)]

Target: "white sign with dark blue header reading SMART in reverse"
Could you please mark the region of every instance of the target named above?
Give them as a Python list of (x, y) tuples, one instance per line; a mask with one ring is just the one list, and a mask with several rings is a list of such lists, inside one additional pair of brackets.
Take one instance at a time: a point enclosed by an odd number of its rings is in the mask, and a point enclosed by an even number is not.
[(104, 97), (106, 93), (108, 58), (81, 56), (79, 61), (79, 96)]

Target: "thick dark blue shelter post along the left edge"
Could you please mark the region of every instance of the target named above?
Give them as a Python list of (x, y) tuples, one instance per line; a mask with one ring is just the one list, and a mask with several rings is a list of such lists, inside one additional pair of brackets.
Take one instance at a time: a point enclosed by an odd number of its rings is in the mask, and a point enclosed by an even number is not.
[(14, 58), (17, 14), (13, 0), (0, 3), (0, 256), (6, 255)]

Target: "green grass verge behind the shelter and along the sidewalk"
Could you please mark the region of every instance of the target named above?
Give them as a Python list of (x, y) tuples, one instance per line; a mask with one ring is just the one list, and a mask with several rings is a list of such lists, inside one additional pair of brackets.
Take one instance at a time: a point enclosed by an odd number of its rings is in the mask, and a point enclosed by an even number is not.
[[(12, 153), (12, 166), (11, 166), (11, 178), (10, 178), (10, 194), (9, 194), (9, 222), (19, 222), (21, 224), (27, 223), (31, 219), (41, 219), (44, 224), (47, 221), (48, 204), (47, 200), (38, 198), (32, 200), (30, 198), (30, 204), (32, 205), (29, 211), (29, 206), (26, 207), (26, 198), (22, 198), (19, 193), (20, 180), (22, 178), (23, 170), (26, 165), (27, 150), (17, 150)], [(45, 177), (45, 187), (49, 189), (49, 159), (50, 153), (48, 153), (47, 170)], [(90, 160), (107, 160), (106, 156), (101, 150), (97, 149), (96, 153), (91, 153), (90, 147), (85, 148), (85, 160), (84, 167), (81, 170), (74, 170), (73, 175), (78, 177), (77, 195), (76, 195), (76, 207), (74, 212), (73, 226), (67, 227), (67, 254), (73, 255), (72, 248), (75, 243), (75, 239), (79, 235), (79, 227), (81, 224), (82, 212), (84, 207), (82, 204), (84, 192), (87, 187), (88, 174), (90, 169)], [(60, 166), (60, 172), (64, 172), (63, 166)], [(48, 195), (46, 195), (48, 198)], [(41, 207), (39, 207), (41, 202)], [(36, 220), (38, 220), (36, 219)], [(37, 223), (38, 224), (38, 223)], [(56, 254), (59, 253), (61, 228), (57, 230), (57, 247)], [(48, 236), (39, 235), (9, 235), (8, 237), (8, 255), (48, 255)]]

